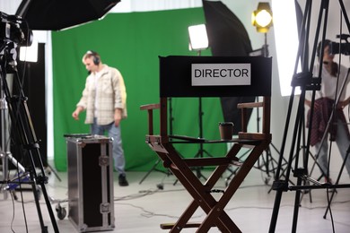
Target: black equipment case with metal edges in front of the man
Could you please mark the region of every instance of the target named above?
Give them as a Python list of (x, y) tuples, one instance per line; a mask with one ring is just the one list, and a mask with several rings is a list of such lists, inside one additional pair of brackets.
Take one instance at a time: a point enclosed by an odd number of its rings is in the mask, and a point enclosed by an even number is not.
[(112, 139), (65, 137), (69, 220), (79, 232), (114, 229)]

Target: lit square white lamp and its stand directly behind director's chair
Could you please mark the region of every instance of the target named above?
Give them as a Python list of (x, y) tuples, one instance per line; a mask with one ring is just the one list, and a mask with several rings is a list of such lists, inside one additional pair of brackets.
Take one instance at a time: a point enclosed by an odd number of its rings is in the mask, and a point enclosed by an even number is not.
[[(197, 51), (197, 56), (201, 56), (202, 50), (209, 47), (209, 41), (206, 34), (206, 25), (199, 24), (188, 27), (188, 36), (189, 36), (189, 50)], [(198, 128), (199, 128), (199, 138), (203, 138), (203, 107), (202, 107), (202, 98), (198, 97)], [(199, 149), (195, 155), (195, 158), (203, 158), (204, 155), (212, 157), (212, 155), (206, 151), (203, 147), (203, 143), (199, 143)], [(197, 177), (206, 177), (203, 176), (201, 168), (196, 168)]]

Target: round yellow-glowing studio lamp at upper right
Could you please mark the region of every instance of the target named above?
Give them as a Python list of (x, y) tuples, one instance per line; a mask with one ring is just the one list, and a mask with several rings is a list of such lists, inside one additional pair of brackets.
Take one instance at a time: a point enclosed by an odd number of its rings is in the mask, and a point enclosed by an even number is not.
[(251, 24), (257, 27), (258, 32), (267, 33), (272, 27), (272, 11), (270, 4), (258, 3), (258, 10), (251, 14)]

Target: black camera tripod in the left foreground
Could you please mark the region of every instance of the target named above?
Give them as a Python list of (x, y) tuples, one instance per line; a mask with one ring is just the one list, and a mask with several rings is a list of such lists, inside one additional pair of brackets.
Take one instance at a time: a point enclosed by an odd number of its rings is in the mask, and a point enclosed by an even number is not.
[[(29, 181), (24, 182), (21, 180), (21, 177), (18, 180), (14, 181), (4, 181), (2, 184), (29, 184), (33, 191), (35, 204), (38, 211), (39, 223), (41, 231), (43, 233), (48, 232), (48, 227), (44, 225), (42, 219), (42, 213), (39, 206), (39, 196), (36, 192), (36, 185), (38, 185), (42, 191), (42, 194), (45, 198), (45, 203), (47, 204), (48, 214), (51, 219), (52, 226), (55, 232), (59, 232), (57, 228), (57, 222), (55, 220), (54, 213), (52, 211), (51, 205), (48, 199), (48, 193), (46, 190), (45, 184), (48, 183), (48, 177), (45, 176), (45, 170), (41, 161), (41, 156), (39, 153), (39, 142), (37, 136), (34, 132), (34, 128), (31, 121), (30, 112), (27, 106), (27, 99), (24, 97), (22, 91), (22, 82), (20, 82), (19, 75), (17, 73), (16, 67), (16, 47), (12, 41), (4, 40), (4, 44), (0, 44), (0, 78), (3, 83), (4, 97), (8, 104), (8, 112), (11, 116), (11, 122), (13, 127), (12, 140), (17, 145), (21, 145), (22, 149), (26, 150), (28, 153), (25, 155), (29, 156), (31, 166), (29, 168)], [(9, 84), (6, 80), (6, 73), (13, 73), (13, 94), (10, 91)], [(24, 153), (23, 153), (24, 156)], [(35, 157), (34, 157), (35, 156)], [(38, 175), (35, 168), (36, 164), (34, 162), (36, 158), (39, 162), (40, 174)]]

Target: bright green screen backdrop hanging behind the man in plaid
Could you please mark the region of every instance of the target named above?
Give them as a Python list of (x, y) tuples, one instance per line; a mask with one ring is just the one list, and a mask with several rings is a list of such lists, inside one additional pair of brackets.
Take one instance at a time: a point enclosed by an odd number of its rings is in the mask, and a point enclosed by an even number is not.
[[(118, 68), (127, 87), (128, 117), (121, 123), (126, 169), (145, 171), (153, 167), (157, 155), (144, 142), (147, 113), (140, 106), (159, 102), (158, 56), (196, 56), (188, 50), (188, 26), (205, 23), (202, 8), (148, 13), (109, 13), (103, 20), (52, 32), (54, 92), (54, 160), (58, 171), (66, 170), (64, 134), (89, 133), (84, 113), (75, 121), (72, 113), (81, 97), (87, 76), (83, 54), (93, 50), (104, 64)], [(210, 50), (202, 56), (210, 56)], [(204, 98), (203, 132), (218, 139), (218, 122), (223, 113), (218, 98)], [(198, 99), (172, 99), (173, 134), (199, 136)], [(155, 131), (159, 129), (158, 111)], [(177, 146), (187, 158), (197, 154), (199, 145)], [(205, 145), (209, 154), (222, 155), (226, 145)], [(161, 167), (161, 166), (160, 166)]]

